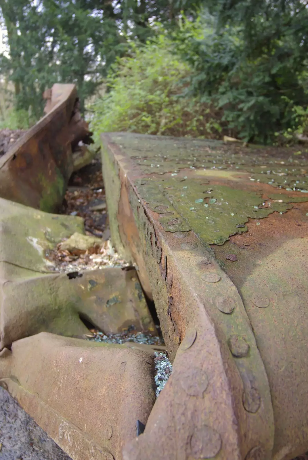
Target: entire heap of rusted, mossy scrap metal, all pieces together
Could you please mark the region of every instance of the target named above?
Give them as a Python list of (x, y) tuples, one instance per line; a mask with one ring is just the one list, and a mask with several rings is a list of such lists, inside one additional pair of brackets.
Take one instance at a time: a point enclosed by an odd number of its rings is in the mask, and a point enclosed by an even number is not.
[[(48, 253), (84, 233), (48, 212), (89, 133), (74, 86), (46, 97), (48, 114), (0, 159), (0, 385), (73, 460), (308, 450), (307, 155), (104, 134), (112, 242), (136, 270), (51, 272)], [(84, 340), (85, 320), (155, 335), (143, 292), (173, 365), (157, 398), (163, 347)]]

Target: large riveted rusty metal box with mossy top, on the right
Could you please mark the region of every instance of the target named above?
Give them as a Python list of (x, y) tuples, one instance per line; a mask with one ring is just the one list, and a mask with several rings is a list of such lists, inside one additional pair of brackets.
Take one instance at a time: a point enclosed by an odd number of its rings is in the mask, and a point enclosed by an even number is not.
[[(307, 158), (102, 135), (113, 242), (155, 300), (173, 372), (124, 460), (308, 450)], [(295, 155), (293, 155), (295, 154)]]

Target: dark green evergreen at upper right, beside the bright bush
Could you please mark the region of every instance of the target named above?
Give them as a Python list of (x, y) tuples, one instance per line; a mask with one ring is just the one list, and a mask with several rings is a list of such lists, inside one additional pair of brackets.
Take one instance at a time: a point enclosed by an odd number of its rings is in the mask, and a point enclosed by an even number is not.
[(291, 3), (209, 1), (212, 16), (186, 21), (174, 37), (194, 69), (191, 93), (223, 109), (227, 126), (246, 141), (271, 143), (275, 132), (295, 128), (292, 107), (308, 104), (308, 10)]

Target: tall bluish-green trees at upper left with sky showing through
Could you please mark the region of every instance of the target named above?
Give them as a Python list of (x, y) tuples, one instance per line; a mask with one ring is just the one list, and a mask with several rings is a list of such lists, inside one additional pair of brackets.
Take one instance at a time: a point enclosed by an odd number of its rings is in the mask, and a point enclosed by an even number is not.
[(9, 48), (0, 68), (15, 85), (16, 108), (31, 107), (39, 118), (46, 87), (70, 82), (78, 87), (82, 111), (110, 65), (126, 53), (128, 38), (145, 42), (154, 33), (153, 18), (174, 27), (181, 8), (181, 1), (164, 0), (0, 0)]

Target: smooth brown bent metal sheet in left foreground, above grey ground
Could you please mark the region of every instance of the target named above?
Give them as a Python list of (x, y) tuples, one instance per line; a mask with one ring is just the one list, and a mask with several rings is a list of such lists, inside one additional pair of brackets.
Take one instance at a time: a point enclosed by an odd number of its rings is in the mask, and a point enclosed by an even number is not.
[(0, 353), (0, 385), (74, 460), (114, 460), (155, 401), (153, 350), (41, 333)]

